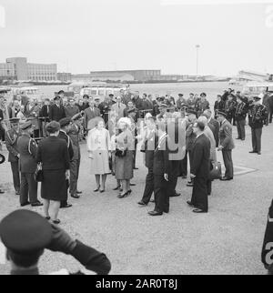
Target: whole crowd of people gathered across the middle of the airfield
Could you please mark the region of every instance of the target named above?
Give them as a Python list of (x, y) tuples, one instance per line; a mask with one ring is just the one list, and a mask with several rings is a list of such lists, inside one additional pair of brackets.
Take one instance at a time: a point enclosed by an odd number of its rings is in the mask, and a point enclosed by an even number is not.
[[(261, 103), (262, 99), (262, 103)], [(261, 155), (263, 126), (272, 122), (273, 97), (243, 96), (228, 89), (209, 105), (206, 93), (185, 98), (152, 96), (130, 90), (119, 96), (83, 96), (66, 98), (60, 91), (43, 102), (23, 101), (21, 96), (7, 105), (0, 97), (1, 137), (8, 150), (16, 195), (22, 207), (44, 205), (45, 219), (60, 224), (59, 208), (72, 207), (68, 200), (80, 198), (77, 188), (81, 152), (86, 140), (90, 172), (96, 178), (94, 192), (106, 191), (106, 177), (115, 176), (118, 198), (128, 197), (134, 186), (136, 150), (144, 153), (147, 177), (143, 197), (145, 207), (155, 203), (149, 216), (169, 213), (169, 198), (179, 197), (177, 178), (189, 179), (192, 198), (187, 204), (194, 213), (208, 212), (208, 196), (212, 192), (211, 171), (217, 163), (217, 151), (223, 156), (226, 173), (219, 179), (232, 180), (237, 139), (246, 138), (245, 127), (251, 127), (250, 153)], [(189, 164), (188, 164), (189, 161)], [(187, 167), (190, 167), (188, 170)], [(42, 170), (41, 197), (37, 197), (37, 170)], [(3, 190), (0, 190), (3, 193)], [(154, 199), (152, 196), (154, 194)], [(52, 205), (52, 212), (49, 207)]]

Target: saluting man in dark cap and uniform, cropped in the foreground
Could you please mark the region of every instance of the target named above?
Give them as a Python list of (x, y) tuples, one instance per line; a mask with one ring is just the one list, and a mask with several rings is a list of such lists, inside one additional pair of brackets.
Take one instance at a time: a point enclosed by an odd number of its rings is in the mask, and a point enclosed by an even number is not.
[(105, 254), (72, 239), (64, 230), (29, 210), (16, 210), (5, 217), (0, 222), (0, 238), (7, 249), (11, 275), (39, 275), (38, 261), (45, 249), (72, 256), (100, 275), (107, 275), (111, 269)]

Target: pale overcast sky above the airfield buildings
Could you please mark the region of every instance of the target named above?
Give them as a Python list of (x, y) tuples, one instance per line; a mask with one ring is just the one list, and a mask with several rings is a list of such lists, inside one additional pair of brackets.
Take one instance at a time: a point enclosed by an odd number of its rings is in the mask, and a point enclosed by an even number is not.
[[(113, 69), (194, 74), (199, 44), (201, 74), (273, 73), (273, 27), (266, 25), (272, 1), (163, 1), (169, 0), (0, 0), (5, 7), (0, 63), (26, 56), (29, 62), (56, 63), (58, 71), (75, 74)], [(273, 23), (271, 11), (268, 21)]]

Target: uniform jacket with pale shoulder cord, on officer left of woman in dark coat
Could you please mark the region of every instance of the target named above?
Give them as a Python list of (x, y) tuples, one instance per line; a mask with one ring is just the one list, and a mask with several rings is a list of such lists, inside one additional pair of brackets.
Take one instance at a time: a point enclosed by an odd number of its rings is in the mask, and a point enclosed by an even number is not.
[(18, 138), (18, 151), (20, 154), (19, 168), (22, 173), (34, 174), (37, 163), (35, 161), (37, 145), (35, 140), (24, 134)]

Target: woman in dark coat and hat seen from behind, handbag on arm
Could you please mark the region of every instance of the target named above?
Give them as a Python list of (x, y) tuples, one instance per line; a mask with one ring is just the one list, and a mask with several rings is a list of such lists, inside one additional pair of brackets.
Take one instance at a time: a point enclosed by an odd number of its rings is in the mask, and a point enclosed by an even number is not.
[(58, 138), (60, 125), (53, 121), (46, 126), (49, 137), (43, 139), (37, 150), (36, 162), (42, 164), (43, 182), (41, 197), (44, 199), (45, 217), (49, 220), (49, 206), (52, 201), (53, 223), (57, 219), (60, 202), (66, 199), (66, 179), (69, 179), (69, 155), (64, 139)]

